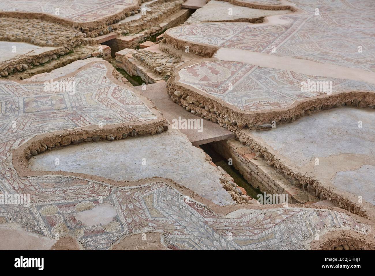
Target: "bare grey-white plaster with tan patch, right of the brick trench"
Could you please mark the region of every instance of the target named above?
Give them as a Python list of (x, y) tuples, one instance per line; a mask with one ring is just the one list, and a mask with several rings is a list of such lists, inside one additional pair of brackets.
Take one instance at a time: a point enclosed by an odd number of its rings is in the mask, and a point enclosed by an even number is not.
[(374, 110), (341, 107), (250, 136), (298, 171), (374, 204), (374, 121)]

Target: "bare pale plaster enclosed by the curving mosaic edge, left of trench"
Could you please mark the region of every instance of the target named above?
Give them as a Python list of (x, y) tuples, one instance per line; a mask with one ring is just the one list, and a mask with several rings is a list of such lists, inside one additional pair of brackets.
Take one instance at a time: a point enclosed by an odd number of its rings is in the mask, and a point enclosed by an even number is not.
[[(59, 166), (55, 166), (55, 158), (59, 158)], [(205, 160), (204, 152), (172, 128), (155, 136), (69, 146), (31, 158), (28, 167), (85, 172), (117, 181), (163, 176), (216, 204), (234, 204), (222, 188), (220, 172)]]

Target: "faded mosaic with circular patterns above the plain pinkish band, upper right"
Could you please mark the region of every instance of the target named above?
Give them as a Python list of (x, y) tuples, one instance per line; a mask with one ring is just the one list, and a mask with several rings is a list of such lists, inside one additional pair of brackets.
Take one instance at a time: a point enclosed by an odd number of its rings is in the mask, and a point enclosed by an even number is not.
[[(303, 12), (281, 16), (287, 24), (201, 23), (166, 32), (183, 41), (375, 71), (375, 6), (371, 0), (290, 2)], [(319, 9), (318, 15), (315, 9)]]

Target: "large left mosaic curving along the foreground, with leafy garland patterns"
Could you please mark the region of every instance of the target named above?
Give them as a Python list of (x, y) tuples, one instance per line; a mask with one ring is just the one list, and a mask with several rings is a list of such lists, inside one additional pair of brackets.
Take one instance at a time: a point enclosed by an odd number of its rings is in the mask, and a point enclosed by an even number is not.
[[(29, 207), (0, 205), (1, 222), (18, 223), (51, 238), (68, 233), (92, 250), (108, 249), (125, 234), (147, 230), (163, 231), (171, 249), (308, 249), (304, 241), (326, 229), (368, 233), (368, 225), (331, 210), (290, 207), (220, 217), (203, 205), (187, 202), (164, 182), (114, 187), (71, 176), (20, 177), (12, 164), (12, 149), (34, 135), (100, 120), (105, 125), (156, 118), (136, 95), (109, 80), (106, 72), (100, 62), (79, 71), (72, 77), (73, 95), (45, 92), (40, 83), (0, 81), (0, 102), (5, 103), (0, 117), (0, 191), (30, 194), (31, 201)], [(110, 223), (86, 226), (75, 218), (101, 199), (117, 211)]]

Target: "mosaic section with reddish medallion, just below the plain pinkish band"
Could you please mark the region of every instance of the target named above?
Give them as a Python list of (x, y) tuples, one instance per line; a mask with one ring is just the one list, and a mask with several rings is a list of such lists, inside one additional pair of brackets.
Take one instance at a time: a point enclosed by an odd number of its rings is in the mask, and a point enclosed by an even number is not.
[(180, 83), (213, 95), (241, 110), (266, 110), (291, 106), (294, 101), (326, 94), (301, 91), (301, 82), (332, 81), (332, 93), (372, 90), (375, 84), (340, 78), (316, 77), (241, 62), (206, 61), (181, 69)]

